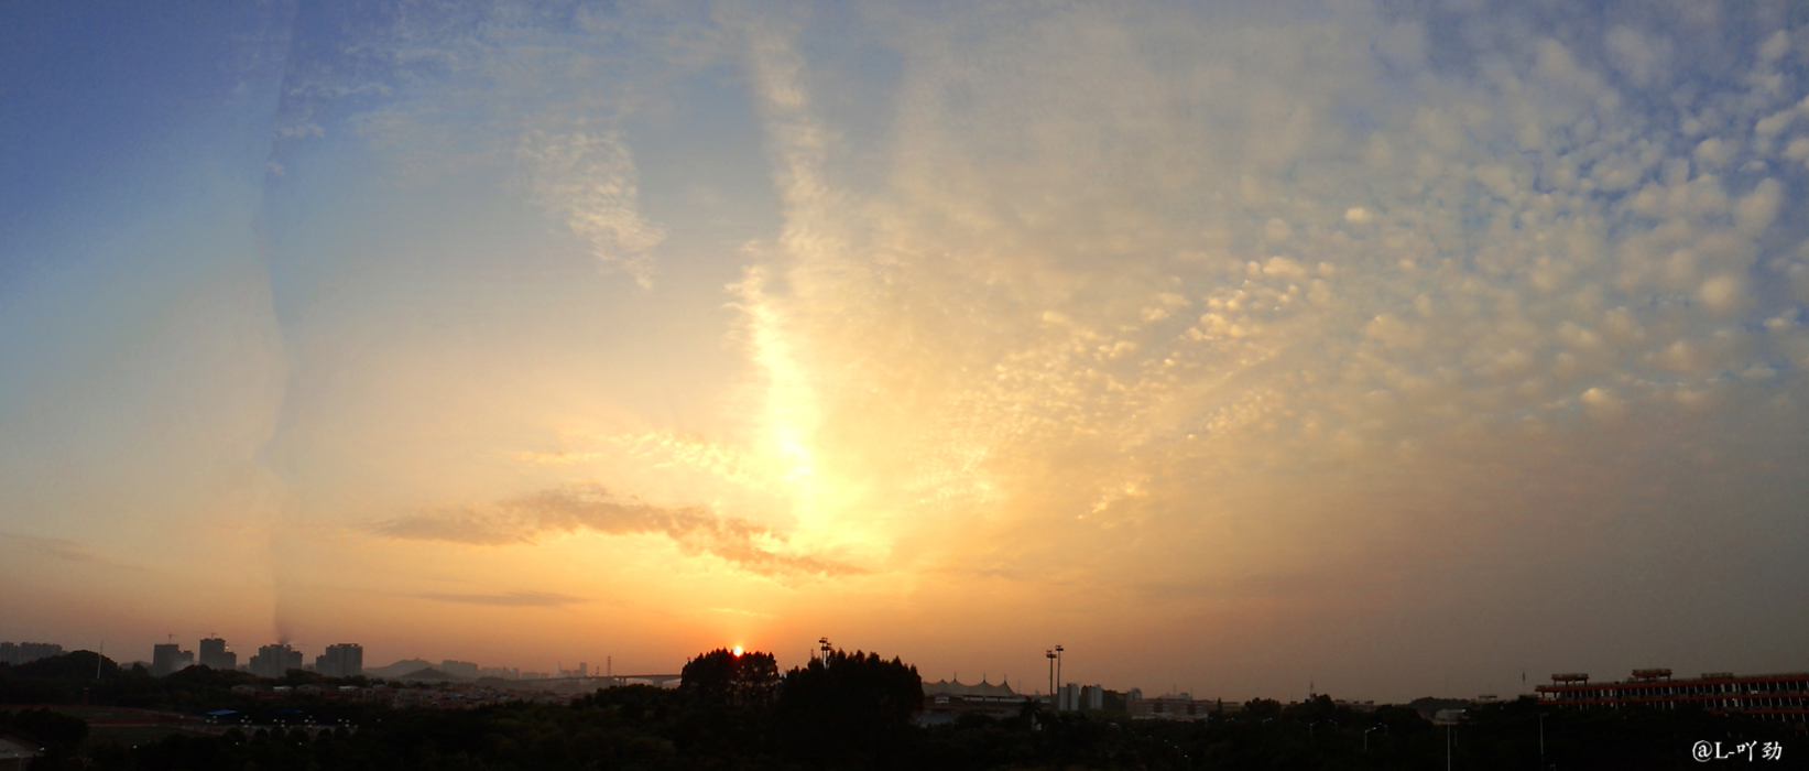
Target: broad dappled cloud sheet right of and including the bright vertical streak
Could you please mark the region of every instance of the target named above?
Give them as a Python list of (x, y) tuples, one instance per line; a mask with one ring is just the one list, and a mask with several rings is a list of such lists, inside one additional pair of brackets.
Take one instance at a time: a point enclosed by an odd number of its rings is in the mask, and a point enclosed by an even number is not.
[[(1782, 311), (1744, 273), (1793, 186), (1742, 168), (1800, 94), (1664, 107), (1735, 67), (1673, 56), (1666, 20), (1422, 56), (1346, 11), (888, 20), (877, 148), (838, 145), (861, 116), (832, 63), (743, 20), (787, 219), (738, 308), (800, 538), (1199, 543), (1243, 474), (1520, 465), (1539, 431), (1632, 431), (1760, 364), (1710, 340)], [(877, 183), (834, 163), (863, 152)]]

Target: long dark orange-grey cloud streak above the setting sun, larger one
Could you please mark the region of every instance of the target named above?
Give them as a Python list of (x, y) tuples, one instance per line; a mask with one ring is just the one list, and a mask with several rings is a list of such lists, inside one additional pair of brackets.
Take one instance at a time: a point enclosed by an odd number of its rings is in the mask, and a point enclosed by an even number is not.
[(662, 534), (686, 554), (709, 554), (762, 576), (854, 576), (865, 570), (812, 556), (781, 554), (767, 527), (722, 518), (704, 507), (666, 509), (620, 498), (601, 485), (568, 485), (487, 507), (423, 512), (373, 523), (371, 532), (405, 541), (445, 541), (479, 547), (530, 545), (548, 536), (597, 532), (606, 536)]

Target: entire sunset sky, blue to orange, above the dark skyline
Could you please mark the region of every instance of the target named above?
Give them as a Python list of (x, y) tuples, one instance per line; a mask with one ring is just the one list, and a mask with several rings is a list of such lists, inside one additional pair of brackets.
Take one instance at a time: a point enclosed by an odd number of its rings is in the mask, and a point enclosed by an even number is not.
[(1802, 4), (7, 4), (0, 179), (0, 639), (1809, 670)]

